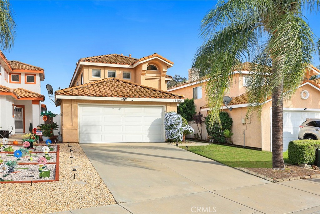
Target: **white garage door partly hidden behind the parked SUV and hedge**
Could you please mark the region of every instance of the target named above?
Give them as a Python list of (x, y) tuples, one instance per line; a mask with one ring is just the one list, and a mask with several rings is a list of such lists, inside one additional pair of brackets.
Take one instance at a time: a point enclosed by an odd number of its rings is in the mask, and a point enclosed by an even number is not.
[(307, 118), (320, 118), (317, 111), (283, 111), (283, 151), (287, 151), (292, 140), (298, 140), (299, 126)]

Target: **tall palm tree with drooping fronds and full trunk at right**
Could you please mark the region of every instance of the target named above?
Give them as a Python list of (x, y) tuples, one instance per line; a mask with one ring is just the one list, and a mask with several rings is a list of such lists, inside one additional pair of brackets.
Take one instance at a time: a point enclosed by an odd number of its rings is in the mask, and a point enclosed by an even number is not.
[(284, 169), (283, 100), (301, 84), (312, 54), (320, 49), (303, 14), (319, 7), (319, 0), (219, 1), (202, 21), (204, 44), (195, 54), (194, 67), (210, 77), (206, 85), (210, 122), (220, 124), (220, 107), (232, 75), (249, 59), (254, 66), (249, 71), (247, 115), (260, 113), (262, 103), (272, 97), (273, 169)]

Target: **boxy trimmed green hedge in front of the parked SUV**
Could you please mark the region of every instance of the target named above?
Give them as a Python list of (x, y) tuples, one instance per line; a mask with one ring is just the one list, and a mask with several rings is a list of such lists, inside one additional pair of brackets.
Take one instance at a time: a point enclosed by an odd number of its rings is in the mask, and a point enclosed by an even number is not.
[(294, 140), (289, 142), (288, 156), (291, 164), (314, 164), (320, 140)]

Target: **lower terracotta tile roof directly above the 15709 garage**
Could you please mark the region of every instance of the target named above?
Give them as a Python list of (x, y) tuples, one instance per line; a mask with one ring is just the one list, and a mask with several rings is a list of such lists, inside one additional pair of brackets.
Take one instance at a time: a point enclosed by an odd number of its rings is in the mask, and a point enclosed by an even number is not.
[(173, 94), (117, 78), (106, 78), (61, 89), (56, 91), (55, 95), (184, 99), (183, 95)]

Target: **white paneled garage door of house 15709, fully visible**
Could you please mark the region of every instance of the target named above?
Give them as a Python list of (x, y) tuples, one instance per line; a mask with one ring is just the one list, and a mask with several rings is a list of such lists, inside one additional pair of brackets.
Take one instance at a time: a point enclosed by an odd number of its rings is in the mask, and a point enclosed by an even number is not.
[(162, 106), (79, 105), (80, 143), (164, 142)]

